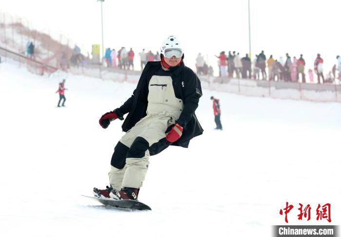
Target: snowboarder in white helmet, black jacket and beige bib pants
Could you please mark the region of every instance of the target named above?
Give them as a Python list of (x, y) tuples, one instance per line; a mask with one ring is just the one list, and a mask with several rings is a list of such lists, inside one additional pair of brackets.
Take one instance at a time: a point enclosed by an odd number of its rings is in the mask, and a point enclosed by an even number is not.
[(149, 157), (170, 145), (187, 148), (190, 139), (203, 133), (194, 113), (202, 96), (201, 84), (184, 65), (180, 41), (169, 36), (160, 52), (161, 62), (146, 64), (133, 95), (99, 119), (100, 126), (107, 128), (128, 113), (122, 125), (126, 134), (111, 159), (110, 186), (94, 188), (97, 197), (137, 200)]

